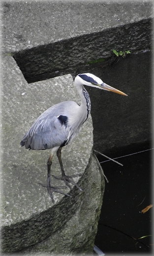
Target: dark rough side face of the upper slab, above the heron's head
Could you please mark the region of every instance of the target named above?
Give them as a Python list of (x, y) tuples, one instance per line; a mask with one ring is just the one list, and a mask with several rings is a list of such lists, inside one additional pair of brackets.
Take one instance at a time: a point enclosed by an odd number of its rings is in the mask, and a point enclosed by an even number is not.
[(34, 47), (15, 53), (14, 58), (28, 81), (31, 82), (31, 79), (38, 81), (73, 73), (79, 65), (111, 57), (112, 49), (139, 51), (150, 48), (151, 27), (151, 20), (142, 20), (134, 24)]

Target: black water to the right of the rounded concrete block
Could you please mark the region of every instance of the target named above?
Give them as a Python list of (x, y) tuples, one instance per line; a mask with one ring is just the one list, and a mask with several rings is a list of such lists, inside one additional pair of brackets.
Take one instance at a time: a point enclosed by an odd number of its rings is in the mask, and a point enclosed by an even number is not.
[(123, 166), (111, 161), (101, 163), (109, 183), (105, 186), (95, 245), (106, 255), (153, 252), (152, 236), (139, 239), (153, 235), (154, 207), (141, 213), (142, 209), (153, 204), (153, 151), (117, 159)]

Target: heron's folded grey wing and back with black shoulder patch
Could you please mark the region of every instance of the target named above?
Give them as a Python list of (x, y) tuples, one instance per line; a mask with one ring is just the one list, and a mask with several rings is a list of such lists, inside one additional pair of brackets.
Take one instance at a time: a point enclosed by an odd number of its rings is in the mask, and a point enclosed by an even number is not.
[[(72, 115), (76, 116), (79, 105), (74, 101), (63, 101), (43, 112), (25, 134), (21, 146), (33, 150), (64, 146), (75, 134)], [(73, 111), (73, 113), (72, 113)], [(75, 123), (76, 121), (73, 122)]]

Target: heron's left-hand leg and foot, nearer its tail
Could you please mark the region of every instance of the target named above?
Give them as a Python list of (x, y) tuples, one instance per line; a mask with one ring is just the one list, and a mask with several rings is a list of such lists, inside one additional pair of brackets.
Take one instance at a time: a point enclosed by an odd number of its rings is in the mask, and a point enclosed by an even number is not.
[(51, 200), (54, 203), (55, 201), (54, 201), (54, 198), (53, 198), (53, 195), (52, 195), (53, 192), (57, 192), (57, 193), (68, 195), (68, 196), (70, 196), (70, 195), (58, 190), (58, 189), (63, 189), (65, 187), (51, 187), (51, 185), (50, 185), (50, 176), (51, 176), (50, 173), (51, 173), (52, 158), (53, 158), (53, 155), (51, 154), (51, 156), (49, 157), (49, 159), (47, 161), (47, 173), (48, 173), (48, 175), (47, 175), (47, 186), (45, 186), (45, 185), (43, 185), (41, 183), (39, 183), (39, 184), (41, 186), (47, 188), (48, 193), (50, 194)]

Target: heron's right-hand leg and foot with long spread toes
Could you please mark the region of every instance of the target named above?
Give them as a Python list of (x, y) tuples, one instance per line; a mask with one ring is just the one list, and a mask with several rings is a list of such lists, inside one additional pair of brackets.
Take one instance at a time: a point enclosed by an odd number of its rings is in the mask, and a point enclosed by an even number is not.
[(63, 165), (62, 165), (62, 159), (61, 159), (61, 151), (62, 151), (62, 147), (60, 147), (57, 151), (57, 157), (58, 157), (58, 160), (60, 162), (60, 166), (61, 166), (61, 171), (62, 171), (62, 178), (60, 177), (57, 177), (55, 175), (52, 175), (53, 177), (55, 177), (56, 179), (61, 179), (64, 181), (64, 183), (66, 184), (66, 186), (69, 187), (70, 190), (72, 190), (71, 186), (69, 185), (69, 183), (71, 183), (72, 185), (74, 185), (75, 187), (77, 187), (80, 191), (82, 191), (82, 189), (74, 182), (71, 180), (71, 178), (73, 177), (77, 177), (77, 176), (82, 176), (82, 174), (74, 174), (74, 175), (71, 175), (71, 176), (66, 176), (65, 175), (65, 172), (64, 172), (64, 169), (63, 169)]

